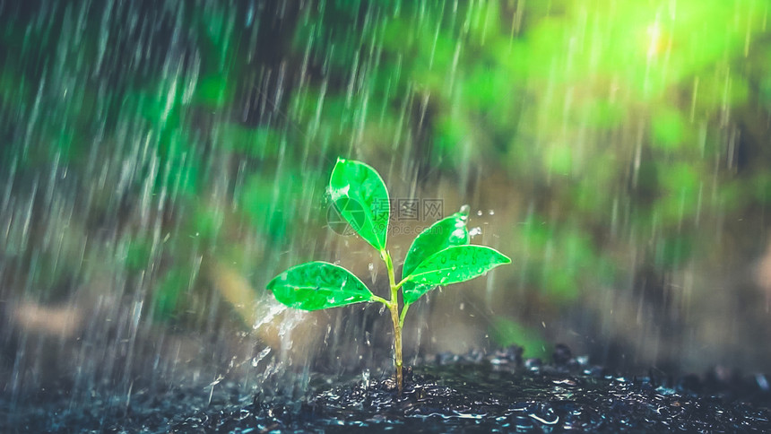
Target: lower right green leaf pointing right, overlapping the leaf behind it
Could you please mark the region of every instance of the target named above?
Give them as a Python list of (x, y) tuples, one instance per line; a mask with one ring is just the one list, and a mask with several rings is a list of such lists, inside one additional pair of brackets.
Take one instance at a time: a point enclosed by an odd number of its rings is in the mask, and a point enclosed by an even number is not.
[(511, 262), (498, 250), (485, 246), (451, 246), (429, 256), (408, 277), (414, 288), (403, 288), (404, 303), (411, 304), (437, 285), (465, 282), (498, 265)]

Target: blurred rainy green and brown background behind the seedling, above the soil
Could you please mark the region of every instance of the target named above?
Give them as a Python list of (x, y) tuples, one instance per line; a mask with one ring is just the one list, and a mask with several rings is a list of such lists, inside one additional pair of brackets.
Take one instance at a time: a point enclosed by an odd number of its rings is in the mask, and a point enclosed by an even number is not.
[[(387, 367), (377, 308), (264, 291), (310, 259), (387, 285), (326, 226), (338, 156), (470, 204), (472, 242), (513, 259), (411, 309), (408, 360), (567, 343), (768, 371), (769, 4), (0, 3), (2, 372), (42, 369), (49, 339), (121, 360), (95, 376)], [(433, 220), (394, 219), (392, 255)]]

